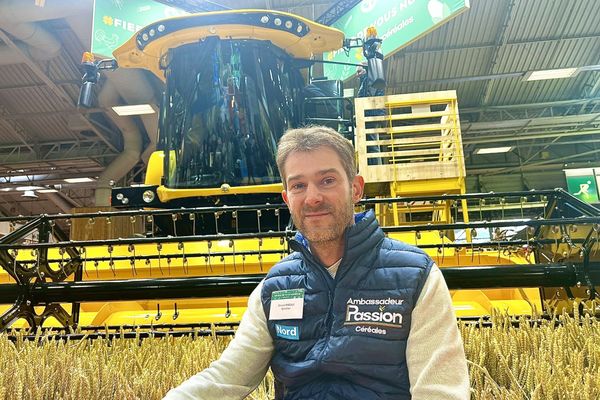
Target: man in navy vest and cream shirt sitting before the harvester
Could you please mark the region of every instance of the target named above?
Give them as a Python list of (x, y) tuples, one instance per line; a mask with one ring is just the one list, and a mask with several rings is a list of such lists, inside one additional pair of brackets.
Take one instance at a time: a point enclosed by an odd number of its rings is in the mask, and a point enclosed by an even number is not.
[(166, 399), (241, 399), (269, 365), (278, 399), (468, 399), (452, 302), (421, 250), (354, 215), (354, 149), (325, 127), (288, 131), (277, 165), (299, 233), (250, 295), (236, 337)]

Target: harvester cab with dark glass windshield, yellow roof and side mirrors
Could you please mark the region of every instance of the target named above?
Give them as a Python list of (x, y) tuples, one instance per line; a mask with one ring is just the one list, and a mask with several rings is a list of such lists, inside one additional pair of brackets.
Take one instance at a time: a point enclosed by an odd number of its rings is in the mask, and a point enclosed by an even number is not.
[[(115, 188), (115, 207), (179, 208), (280, 203), (275, 152), (288, 128), (326, 124), (353, 139), (352, 101), (339, 80), (313, 79), (314, 56), (360, 47), (370, 85), (384, 84), (380, 39), (342, 32), (291, 14), (236, 10), (153, 23), (115, 52), (84, 62), (80, 103), (107, 67), (143, 68), (164, 82), (157, 150), (143, 186)], [(97, 66), (94, 70), (94, 66)], [(358, 66), (358, 65), (357, 65)], [(265, 212), (262, 228), (289, 219)], [(163, 233), (227, 232), (234, 221), (200, 216), (193, 224), (156, 219)], [(194, 226), (192, 226), (194, 225)], [(218, 225), (218, 226), (217, 226)], [(237, 221), (254, 232), (256, 220)]]

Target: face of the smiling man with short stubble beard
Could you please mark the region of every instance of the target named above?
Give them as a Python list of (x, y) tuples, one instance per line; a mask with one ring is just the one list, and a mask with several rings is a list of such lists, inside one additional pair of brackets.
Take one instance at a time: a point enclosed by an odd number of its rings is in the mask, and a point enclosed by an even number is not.
[(298, 230), (311, 243), (340, 240), (362, 197), (363, 178), (348, 182), (339, 156), (326, 146), (290, 154), (284, 170), (282, 196)]

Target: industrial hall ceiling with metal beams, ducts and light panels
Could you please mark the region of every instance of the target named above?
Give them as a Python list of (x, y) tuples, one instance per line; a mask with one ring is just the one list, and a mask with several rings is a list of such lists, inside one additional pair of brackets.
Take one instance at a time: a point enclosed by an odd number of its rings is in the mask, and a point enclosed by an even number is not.
[[(241, 3), (163, 2), (198, 11)], [(248, 0), (243, 8), (318, 20), (348, 3)], [(387, 93), (457, 90), (469, 191), (564, 186), (565, 167), (600, 166), (598, 17), (596, 0), (472, 0), (469, 10), (386, 60)], [(156, 103), (160, 85), (142, 72), (109, 73), (101, 105), (77, 110), (91, 18), (92, 0), (0, 0), (0, 213), (68, 212), (105, 202), (110, 180), (143, 178), (156, 114), (118, 117), (110, 106)], [(568, 67), (578, 73), (524, 79)], [(494, 146), (511, 150), (476, 154)], [(55, 185), (58, 192), (37, 191), (37, 198), (15, 190)], [(96, 186), (102, 190), (94, 196)]]

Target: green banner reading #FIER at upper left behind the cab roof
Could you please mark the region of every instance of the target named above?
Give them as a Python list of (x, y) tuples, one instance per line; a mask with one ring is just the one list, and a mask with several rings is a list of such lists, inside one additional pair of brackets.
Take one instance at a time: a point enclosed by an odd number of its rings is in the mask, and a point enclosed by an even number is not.
[(163, 18), (187, 14), (152, 0), (95, 0), (92, 53), (110, 57), (144, 26)]

